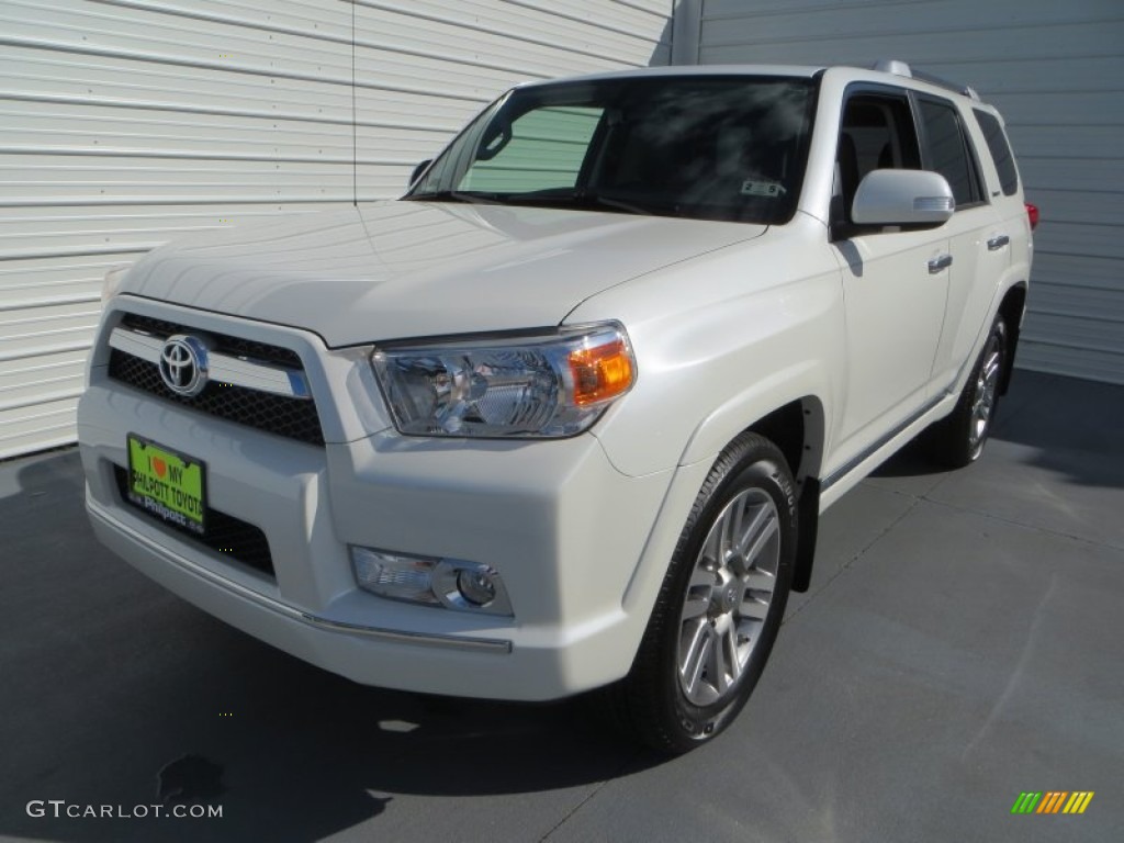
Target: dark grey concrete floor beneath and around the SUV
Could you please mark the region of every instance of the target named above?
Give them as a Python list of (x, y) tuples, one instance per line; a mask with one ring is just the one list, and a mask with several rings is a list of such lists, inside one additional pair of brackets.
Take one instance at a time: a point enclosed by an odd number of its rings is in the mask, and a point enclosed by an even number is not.
[[(0, 835), (1124, 840), (1122, 415), (1124, 388), (1018, 372), (979, 463), (883, 465), (825, 516), (742, 717), (673, 761), (575, 703), (424, 698), (303, 664), (97, 545), (73, 450), (0, 464)], [(27, 815), (156, 804), (184, 755), (217, 765), (183, 774), (221, 819)], [(1096, 796), (1013, 816), (1024, 790)]]

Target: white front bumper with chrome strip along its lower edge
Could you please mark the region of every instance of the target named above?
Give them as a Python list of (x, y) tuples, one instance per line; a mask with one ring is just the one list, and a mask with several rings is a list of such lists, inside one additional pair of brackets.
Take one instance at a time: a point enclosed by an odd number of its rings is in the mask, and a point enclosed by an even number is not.
[[(320, 406), (351, 388), (320, 384)], [(128, 506), (115, 478), (127, 464), (126, 433), (202, 460), (209, 506), (264, 532), (273, 575)], [(170, 406), (94, 369), (79, 439), (101, 542), (206, 611), (326, 670), (388, 688), (543, 700), (611, 682), (632, 664), (651, 606), (629, 599), (629, 588), (653, 551), (673, 472), (626, 477), (592, 436), (470, 443), (384, 429), (317, 447)], [(504, 577), (515, 615), (362, 591), (350, 544), (484, 562)]]

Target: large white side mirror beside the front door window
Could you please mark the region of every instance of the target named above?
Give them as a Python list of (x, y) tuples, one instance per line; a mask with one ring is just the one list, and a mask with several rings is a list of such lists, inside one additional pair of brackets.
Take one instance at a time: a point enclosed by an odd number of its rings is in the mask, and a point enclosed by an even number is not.
[(936, 228), (957, 209), (952, 188), (930, 170), (872, 170), (854, 193), (851, 221), (859, 226)]

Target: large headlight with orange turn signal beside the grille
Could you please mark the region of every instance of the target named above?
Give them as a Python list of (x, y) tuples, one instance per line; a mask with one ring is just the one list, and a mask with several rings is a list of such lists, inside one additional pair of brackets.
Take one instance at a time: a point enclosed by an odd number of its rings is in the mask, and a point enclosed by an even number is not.
[(395, 425), (415, 436), (572, 436), (636, 380), (617, 323), (386, 346), (372, 363)]

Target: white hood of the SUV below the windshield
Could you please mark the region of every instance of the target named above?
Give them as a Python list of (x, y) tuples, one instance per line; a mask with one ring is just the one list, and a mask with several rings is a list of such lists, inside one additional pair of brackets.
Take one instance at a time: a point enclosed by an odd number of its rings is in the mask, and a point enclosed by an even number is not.
[(207, 232), (121, 292), (291, 325), (328, 345), (558, 325), (583, 300), (764, 226), (393, 201)]

